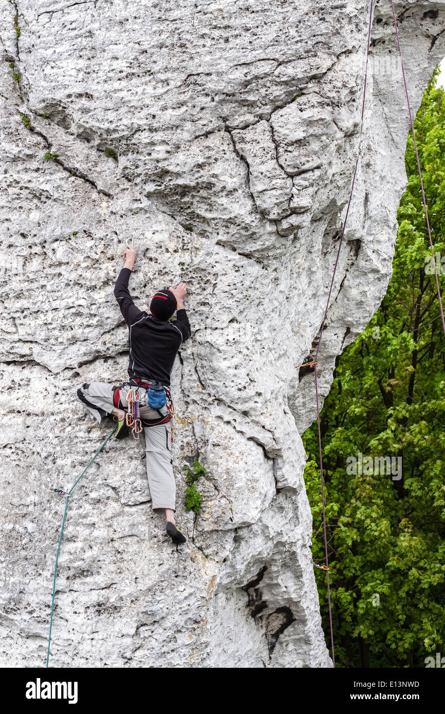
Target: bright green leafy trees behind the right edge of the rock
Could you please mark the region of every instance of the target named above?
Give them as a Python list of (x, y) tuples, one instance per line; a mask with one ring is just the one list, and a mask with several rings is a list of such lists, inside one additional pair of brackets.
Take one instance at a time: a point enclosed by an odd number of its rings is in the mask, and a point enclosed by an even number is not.
[[(444, 256), (445, 94), (437, 74), (415, 130), (434, 251)], [(321, 412), (334, 642), (343, 667), (423, 668), (426, 656), (445, 650), (445, 340), (435, 277), (425, 271), (430, 248), (411, 135), (406, 173), (388, 291), (339, 358)], [(304, 443), (312, 554), (322, 563), (316, 425)], [(359, 452), (401, 457), (400, 480), (346, 473), (346, 459)], [(315, 576), (328, 633), (326, 573)]]

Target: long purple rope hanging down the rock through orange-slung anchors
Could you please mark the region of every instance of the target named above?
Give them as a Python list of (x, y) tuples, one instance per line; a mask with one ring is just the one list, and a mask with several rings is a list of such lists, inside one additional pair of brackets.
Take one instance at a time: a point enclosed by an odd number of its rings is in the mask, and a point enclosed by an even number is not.
[[(360, 159), (360, 149), (361, 149), (361, 136), (363, 134), (363, 122), (364, 122), (364, 111), (365, 111), (365, 102), (366, 102), (366, 84), (368, 81), (368, 64), (369, 64), (369, 47), (371, 44), (371, 25), (372, 25), (372, 11), (373, 11), (373, 5), (374, 5), (374, 0), (371, 0), (371, 7), (369, 11), (369, 26), (368, 26), (368, 44), (366, 47), (366, 66), (365, 66), (365, 76), (364, 76), (364, 88), (363, 88), (363, 103), (361, 105), (361, 121), (360, 121), (360, 133), (359, 133), (359, 149), (357, 151), (357, 158), (356, 158), (356, 165), (354, 169), (354, 175), (352, 176), (352, 183), (351, 183), (351, 191), (349, 193), (349, 201), (348, 201), (348, 206), (346, 208), (346, 214), (344, 217), (344, 223), (343, 223), (343, 229), (341, 231), (341, 238), (340, 238), (340, 243), (339, 243), (339, 249), (337, 251), (337, 256), (336, 256), (336, 261), (334, 265), (334, 274), (332, 276), (331, 280), (331, 287), (329, 288), (329, 295), (328, 299), (326, 301), (326, 310), (324, 311), (324, 317), (323, 317), (323, 322), (321, 323), (321, 331), (320, 331), (320, 338), (319, 338), (319, 344), (318, 347), (316, 348), (316, 353), (315, 353), (315, 358), (314, 361), (316, 361), (318, 354), (319, 354), (319, 349), (321, 345), (321, 337), (323, 336), (324, 332), (324, 324), (326, 321), (326, 315), (328, 312), (329, 308), (329, 302), (331, 301), (331, 293), (332, 293), (332, 288), (334, 286), (334, 280), (335, 280), (335, 275), (337, 271), (337, 266), (339, 264), (339, 257), (340, 257), (340, 251), (341, 251), (341, 245), (343, 243), (343, 238), (344, 238), (344, 231), (346, 228), (346, 221), (348, 220), (349, 216), (349, 208), (351, 207), (351, 201), (352, 201), (352, 195), (354, 193), (354, 185), (356, 182), (356, 175), (357, 175), (357, 168), (359, 166), (359, 159)], [(326, 583), (328, 586), (328, 606), (329, 606), (329, 627), (331, 629), (331, 650), (332, 650), (332, 663), (334, 664), (335, 667), (335, 654), (334, 654), (334, 630), (332, 627), (332, 608), (331, 608), (331, 588), (329, 585), (329, 558), (328, 558), (328, 539), (326, 535), (326, 509), (324, 505), (324, 475), (323, 475), (323, 457), (321, 456), (321, 429), (320, 429), (320, 409), (319, 409), (319, 387), (318, 387), (318, 381), (317, 381), (317, 374), (316, 374), (316, 365), (314, 368), (314, 376), (315, 376), (315, 396), (316, 396), (316, 421), (318, 425), (318, 430), (319, 430), (319, 455), (320, 455), (320, 476), (321, 476), (321, 505), (323, 508), (323, 532), (324, 532), (324, 556), (326, 560)]]

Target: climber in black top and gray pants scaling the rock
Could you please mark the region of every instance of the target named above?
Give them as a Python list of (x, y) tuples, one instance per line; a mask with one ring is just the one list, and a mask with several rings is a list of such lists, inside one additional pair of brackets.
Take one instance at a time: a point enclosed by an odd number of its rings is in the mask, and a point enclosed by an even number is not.
[[(120, 386), (103, 382), (84, 384), (77, 396), (102, 423), (106, 416), (114, 416), (118, 421), (116, 438), (129, 434), (132, 426), (130, 413), (134, 406), (134, 394), (140, 400), (136, 416), (141, 420), (146, 445), (146, 470), (151, 494), (151, 508), (155, 512), (165, 511), (166, 533), (176, 543), (185, 543), (186, 538), (176, 526), (174, 518), (176, 486), (171, 460), (171, 410), (166, 404), (170, 398), (170, 374), (176, 353), (191, 335), (189, 318), (184, 309), (187, 293), (185, 283), (177, 288), (160, 290), (150, 303), (150, 314), (139, 310), (131, 299), (128, 284), (136, 260), (136, 250), (126, 246), (124, 267), (116, 280), (114, 296), (129, 328), (129, 368), (130, 381)], [(174, 311), (176, 320), (170, 321)], [(149, 388), (159, 388), (164, 397), (161, 408), (151, 408), (147, 395)], [(133, 390), (131, 392), (131, 390)], [(151, 401), (156, 406), (156, 402)], [(134, 428), (133, 436), (138, 436)], [(133, 423), (134, 426), (134, 423)]]

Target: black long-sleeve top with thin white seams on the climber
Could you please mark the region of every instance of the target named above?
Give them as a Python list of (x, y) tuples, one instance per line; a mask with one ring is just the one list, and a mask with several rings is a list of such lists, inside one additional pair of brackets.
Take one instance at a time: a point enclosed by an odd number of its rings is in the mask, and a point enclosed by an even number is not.
[(129, 376), (170, 384), (176, 353), (191, 335), (186, 311), (178, 310), (176, 320), (158, 320), (142, 312), (131, 299), (131, 270), (122, 268), (114, 286), (114, 296), (129, 327)]

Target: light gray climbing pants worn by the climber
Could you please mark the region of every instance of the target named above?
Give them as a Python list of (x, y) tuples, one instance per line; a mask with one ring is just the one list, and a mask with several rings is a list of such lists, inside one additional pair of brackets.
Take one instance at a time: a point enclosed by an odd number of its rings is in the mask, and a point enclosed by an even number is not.
[[(115, 394), (116, 389), (119, 389), (119, 392)], [(129, 389), (128, 385), (116, 387), (106, 382), (91, 382), (81, 386), (77, 391), (77, 396), (101, 424), (104, 417), (111, 413), (115, 406), (127, 411), (128, 401), (126, 396)], [(141, 406), (139, 411), (141, 419), (144, 420), (161, 418), (159, 412), (154, 411), (148, 405)], [(168, 414), (166, 407), (163, 407), (160, 412), (163, 416)], [(170, 453), (170, 423), (144, 426), (144, 436), (151, 508), (154, 511), (159, 508), (171, 508), (174, 511), (176, 484)]]

